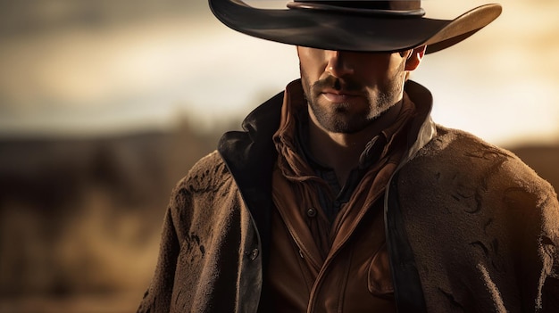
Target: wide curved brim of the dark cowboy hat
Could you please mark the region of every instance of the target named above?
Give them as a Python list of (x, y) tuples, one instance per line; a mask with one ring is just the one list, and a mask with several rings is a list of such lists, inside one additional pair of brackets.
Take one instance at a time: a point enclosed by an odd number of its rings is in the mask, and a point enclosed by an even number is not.
[(454, 20), (382, 16), (313, 9), (261, 9), (241, 0), (209, 0), (230, 29), (288, 45), (325, 50), (396, 52), (427, 45), (427, 54), (455, 45), (494, 21), (499, 4), (485, 4)]

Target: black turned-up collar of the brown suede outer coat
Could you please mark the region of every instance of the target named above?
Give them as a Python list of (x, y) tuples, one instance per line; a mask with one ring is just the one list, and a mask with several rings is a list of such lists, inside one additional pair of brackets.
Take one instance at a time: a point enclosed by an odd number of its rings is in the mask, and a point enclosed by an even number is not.
[[(432, 96), (430, 91), (408, 80), (405, 92), (416, 105), (417, 117), (409, 133), (409, 149), (400, 167), (427, 144), (435, 135), (435, 125), (430, 119)], [(278, 152), (272, 136), (280, 127), (281, 106), (285, 94), (271, 97), (246, 116), (243, 131), (231, 131), (221, 136), (218, 152), (234, 177), (240, 194), (250, 210), (263, 248), (264, 264), (267, 263), (270, 243), (271, 171)]]

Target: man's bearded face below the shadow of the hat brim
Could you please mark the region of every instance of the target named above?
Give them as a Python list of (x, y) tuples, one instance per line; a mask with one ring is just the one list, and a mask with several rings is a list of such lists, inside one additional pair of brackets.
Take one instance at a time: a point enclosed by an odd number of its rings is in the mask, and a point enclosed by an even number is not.
[(338, 52), (298, 46), (311, 118), (333, 133), (355, 133), (402, 99), (408, 54)]

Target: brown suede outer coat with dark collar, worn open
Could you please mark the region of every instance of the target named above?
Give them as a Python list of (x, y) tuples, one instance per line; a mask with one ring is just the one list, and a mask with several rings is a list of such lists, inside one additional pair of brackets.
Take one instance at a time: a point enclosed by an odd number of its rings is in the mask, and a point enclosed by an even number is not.
[[(412, 89), (418, 88), (425, 92), (417, 84)], [(266, 113), (256, 114), (263, 126), (246, 122), (246, 133), (229, 134), (232, 147), (222, 142), (221, 154), (204, 157), (179, 182), (139, 312), (265, 307), (270, 203), (263, 183), (269, 176), (261, 169), (271, 168), (262, 160), (274, 155), (271, 145), (259, 143), (271, 141), (277, 125), (268, 120), (279, 115), (280, 104), (281, 95), (264, 103)], [(429, 116), (423, 121), (430, 124)], [(263, 132), (270, 136), (262, 139)], [(551, 185), (511, 152), (479, 138), (441, 127), (431, 136), (396, 172), (386, 197), (398, 310), (558, 312), (559, 204)]]

